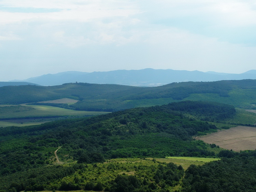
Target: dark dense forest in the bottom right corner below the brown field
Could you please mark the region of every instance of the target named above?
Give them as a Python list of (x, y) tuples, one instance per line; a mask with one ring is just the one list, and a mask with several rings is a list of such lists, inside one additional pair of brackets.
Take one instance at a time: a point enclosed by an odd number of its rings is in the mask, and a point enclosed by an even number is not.
[(224, 157), (221, 161), (190, 165), (183, 179), (182, 191), (256, 190), (256, 151), (222, 151), (219, 155)]

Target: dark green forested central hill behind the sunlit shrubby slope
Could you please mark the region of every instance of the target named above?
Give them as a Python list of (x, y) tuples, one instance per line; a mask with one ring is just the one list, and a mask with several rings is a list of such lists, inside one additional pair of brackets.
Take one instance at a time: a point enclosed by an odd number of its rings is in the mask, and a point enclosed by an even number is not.
[[(53, 167), (49, 172), (54, 176), (42, 171), (42, 167), (51, 168), (49, 165), (55, 161), (52, 157), (58, 146), (61, 146), (58, 154), (62, 162), (77, 161), (79, 164), (128, 157), (217, 157), (216, 150), (202, 141), (193, 140), (192, 136), (216, 130), (214, 124), (204, 120), (221, 121), (235, 113), (231, 105), (185, 101), (87, 119), (0, 128), (0, 190), (12, 187), (19, 191), (48, 189), (49, 181), (83, 168), (80, 165), (70, 170), (67, 166)], [(33, 174), (40, 170), (45, 174), (43, 178)], [(56, 182), (55, 185), (56, 189), (61, 189)], [(77, 188), (80, 187), (76, 185), (71, 189)]]

